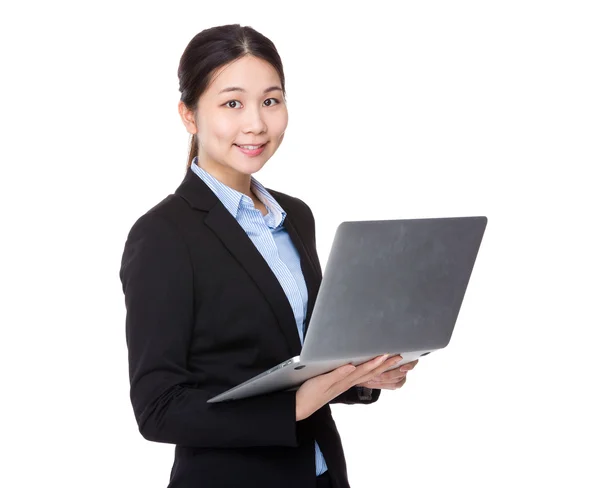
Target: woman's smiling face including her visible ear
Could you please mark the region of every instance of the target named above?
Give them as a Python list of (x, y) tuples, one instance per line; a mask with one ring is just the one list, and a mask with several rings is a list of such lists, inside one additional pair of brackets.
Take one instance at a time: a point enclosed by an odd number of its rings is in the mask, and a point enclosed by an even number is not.
[(196, 113), (180, 102), (184, 125), (196, 134), (198, 165), (239, 191), (240, 186), (249, 190), (250, 175), (273, 156), (285, 134), (288, 112), (281, 88), (273, 66), (246, 55), (215, 71)]

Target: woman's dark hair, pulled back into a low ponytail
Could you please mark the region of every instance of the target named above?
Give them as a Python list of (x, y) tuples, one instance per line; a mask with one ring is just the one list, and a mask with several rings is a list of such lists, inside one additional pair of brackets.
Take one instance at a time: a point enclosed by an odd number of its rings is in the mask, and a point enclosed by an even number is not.
[[(190, 110), (196, 110), (198, 99), (208, 86), (214, 70), (248, 54), (267, 61), (275, 68), (281, 79), (285, 99), (283, 65), (275, 45), (252, 27), (230, 24), (203, 30), (185, 48), (177, 70), (181, 101)], [(197, 146), (194, 134), (190, 144), (188, 168), (198, 150)]]

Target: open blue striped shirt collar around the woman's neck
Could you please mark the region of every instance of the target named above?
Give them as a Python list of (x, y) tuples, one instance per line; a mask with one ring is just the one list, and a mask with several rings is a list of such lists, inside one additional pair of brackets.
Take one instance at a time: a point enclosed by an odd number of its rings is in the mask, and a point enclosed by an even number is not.
[[(236, 220), (241, 207), (254, 207), (254, 202), (248, 195), (234, 190), (225, 183), (217, 180), (208, 171), (197, 164), (198, 158), (195, 157), (191, 164), (191, 169), (206, 185), (212, 190), (219, 200), (223, 203), (227, 211), (233, 215)], [(283, 224), (286, 212), (277, 200), (267, 191), (267, 189), (254, 176), (250, 177), (250, 187), (254, 190), (257, 198), (267, 207), (269, 214), (265, 216), (269, 227), (278, 228)]]

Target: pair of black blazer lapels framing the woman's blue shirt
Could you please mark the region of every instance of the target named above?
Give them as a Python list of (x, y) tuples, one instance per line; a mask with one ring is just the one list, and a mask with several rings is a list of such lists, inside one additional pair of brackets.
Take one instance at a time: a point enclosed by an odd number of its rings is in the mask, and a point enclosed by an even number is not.
[[(287, 342), (290, 356), (299, 355), (302, 346), (298, 337), (298, 329), (296, 328), (296, 320), (292, 307), (279, 280), (258, 249), (256, 249), (252, 240), (246, 235), (244, 229), (227, 211), (212, 190), (191, 169), (188, 169), (183, 182), (175, 190), (175, 194), (184, 198), (193, 208), (207, 212), (204, 219), (205, 224), (215, 233), (223, 245), (246, 270), (264, 295), (277, 317), (277, 322)], [(289, 214), (286, 216), (284, 225), (288, 229), (288, 232), (290, 232), (292, 242), (296, 245), (300, 253), (302, 271), (308, 274), (308, 276), (305, 274), (305, 279), (307, 289), (309, 289), (310, 302), (311, 293), (315, 293), (314, 283), (316, 276), (314, 276), (314, 272), (311, 270), (306, 250), (297, 231), (293, 228), (291, 222), (286, 222), (288, 217)], [(290, 229), (293, 230), (290, 231)]]

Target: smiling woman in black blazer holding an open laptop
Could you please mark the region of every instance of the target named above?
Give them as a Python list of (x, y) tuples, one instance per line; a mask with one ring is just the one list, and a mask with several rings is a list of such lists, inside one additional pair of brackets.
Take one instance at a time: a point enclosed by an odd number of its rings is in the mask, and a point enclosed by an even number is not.
[(211, 397), (300, 353), (321, 281), (315, 222), (259, 171), (288, 122), (283, 68), (250, 27), (202, 31), (179, 65), (192, 134), (174, 194), (131, 228), (120, 269), (131, 401), (141, 434), (176, 444), (169, 487), (348, 487), (330, 403), (372, 403), (399, 357), (281, 391)]

